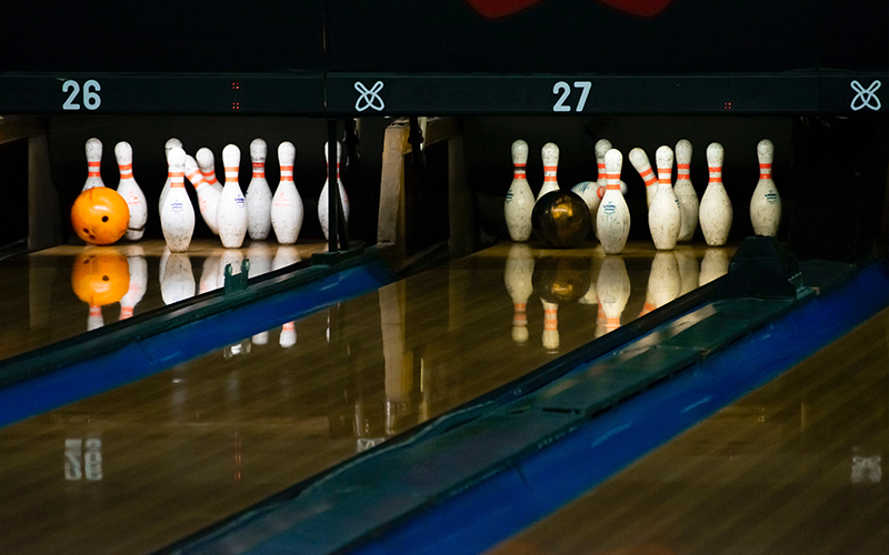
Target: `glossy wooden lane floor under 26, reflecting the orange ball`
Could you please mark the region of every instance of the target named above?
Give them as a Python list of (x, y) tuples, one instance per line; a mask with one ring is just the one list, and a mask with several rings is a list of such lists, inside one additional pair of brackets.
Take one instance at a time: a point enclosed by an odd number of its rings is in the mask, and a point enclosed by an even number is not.
[(326, 243), (248, 241), (228, 250), (218, 241), (193, 241), (187, 254), (172, 256), (169, 274), (160, 270), (170, 260), (164, 248), (163, 241), (62, 245), (0, 262), (0, 361), (221, 287), (223, 258), (238, 269), (251, 259), (254, 276), (321, 252)]

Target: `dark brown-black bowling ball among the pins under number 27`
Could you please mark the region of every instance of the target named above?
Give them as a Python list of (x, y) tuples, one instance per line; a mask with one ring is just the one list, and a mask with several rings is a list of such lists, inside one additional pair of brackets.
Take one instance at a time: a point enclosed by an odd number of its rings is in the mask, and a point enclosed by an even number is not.
[(577, 193), (550, 191), (535, 204), (531, 225), (543, 245), (571, 249), (590, 232), (590, 210)]

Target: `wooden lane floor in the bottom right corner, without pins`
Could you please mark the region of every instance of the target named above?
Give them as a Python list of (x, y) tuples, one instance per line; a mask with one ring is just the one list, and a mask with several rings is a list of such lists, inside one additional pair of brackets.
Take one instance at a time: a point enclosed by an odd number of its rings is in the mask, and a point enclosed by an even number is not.
[(885, 553), (889, 310), (497, 554)]

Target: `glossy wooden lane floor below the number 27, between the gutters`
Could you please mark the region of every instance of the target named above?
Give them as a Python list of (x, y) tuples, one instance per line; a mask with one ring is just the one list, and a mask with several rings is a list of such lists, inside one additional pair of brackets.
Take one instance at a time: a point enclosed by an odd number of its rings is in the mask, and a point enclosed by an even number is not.
[(2, 428), (0, 552), (160, 548), (668, 302), (729, 252), (500, 244)]

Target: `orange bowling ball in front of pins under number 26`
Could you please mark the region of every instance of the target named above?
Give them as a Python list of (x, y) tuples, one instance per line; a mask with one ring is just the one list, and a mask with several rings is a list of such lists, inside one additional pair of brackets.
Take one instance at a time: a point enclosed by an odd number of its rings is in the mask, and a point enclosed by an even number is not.
[(123, 236), (130, 223), (130, 208), (117, 191), (107, 186), (87, 189), (71, 206), (71, 226), (90, 244), (111, 244)]

